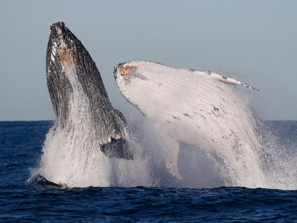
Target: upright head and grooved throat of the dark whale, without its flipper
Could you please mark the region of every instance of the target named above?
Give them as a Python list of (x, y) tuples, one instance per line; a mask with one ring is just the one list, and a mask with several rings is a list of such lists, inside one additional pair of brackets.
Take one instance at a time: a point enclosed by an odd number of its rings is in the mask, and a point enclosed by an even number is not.
[[(67, 122), (69, 113), (73, 111), (72, 101), (79, 103), (83, 98), (86, 103), (82, 106), (87, 110), (90, 121), (100, 124), (102, 128), (116, 122), (95, 62), (64, 22), (50, 26), (46, 76), (57, 125), (64, 126)], [(105, 121), (108, 117), (110, 120)], [(112, 127), (120, 131), (116, 126)]]

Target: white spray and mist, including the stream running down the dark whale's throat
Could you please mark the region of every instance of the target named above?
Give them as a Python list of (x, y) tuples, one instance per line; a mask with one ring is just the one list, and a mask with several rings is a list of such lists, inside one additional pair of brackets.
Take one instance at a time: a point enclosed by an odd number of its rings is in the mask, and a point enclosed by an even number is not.
[[(154, 128), (156, 122), (143, 117), (138, 111), (125, 111), (127, 135), (134, 159), (102, 158), (98, 149), (98, 129), (109, 123), (102, 118), (96, 123), (92, 119), (94, 103), (87, 97), (74, 64), (63, 68), (68, 78), (69, 95), (62, 98), (68, 106), (66, 120), (56, 120), (49, 130), (42, 148), (38, 167), (32, 170), (31, 178), (42, 177), (67, 187), (135, 187), (162, 186), (176, 188), (215, 188), (219, 186), (241, 186), (249, 188), (297, 189), (296, 147), (283, 145), (269, 126), (260, 125), (259, 130), (248, 128), (245, 137), (261, 134), (261, 151), (255, 145), (240, 144), (240, 149), (207, 144), (198, 148), (179, 143), (178, 169), (181, 180), (173, 177), (165, 165), (162, 143), (164, 134)], [(59, 83), (54, 83), (59, 86)], [(91, 91), (94, 91), (92, 94)], [(95, 89), (89, 88), (95, 95)], [(162, 103), (162, 102), (161, 102)], [(60, 108), (59, 113), (64, 110)], [(100, 105), (98, 108), (100, 109)], [(234, 121), (240, 121), (235, 119)], [(237, 124), (237, 123), (236, 123)], [(239, 124), (240, 125), (240, 124)], [(235, 125), (236, 126), (236, 125)], [(108, 128), (111, 128), (108, 126)], [(166, 129), (165, 129), (166, 130)], [(178, 131), (178, 130), (177, 130)], [(182, 131), (182, 130), (180, 130)], [(253, 132), (254, 131), (254, 132)], [(233, 133), (232, 133), (233, 134)], [(183, 136), (184, 133), (180, 132)], [(229, 136), (229, 135), (228, 135)], [(230, 135), (231, 136), (231, 135)], [(214, 142), (221, 142), (222, 136), (211, 136)], [(187, 139), (187, 136), (184, 135)], [(240, 139), (240, 142), (252, 142)], [(187, 142), (187, 141), (185, 141)], [(237, 142), (238, 144), (238, 142)], [(236, 146), (236, 145), (235, 145)], [(222, 150), (221, 150), (222, 149)], [(238, 152), (239, 151), (239, 152)]]

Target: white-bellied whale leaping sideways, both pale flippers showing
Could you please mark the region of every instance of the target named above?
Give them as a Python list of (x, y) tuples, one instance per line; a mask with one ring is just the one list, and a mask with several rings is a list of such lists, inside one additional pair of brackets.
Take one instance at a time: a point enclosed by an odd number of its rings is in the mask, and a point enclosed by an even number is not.
[(262, 156), (257, 120), (230, 84), (258, 89), (209, 70), (175, 69), (150, 61), (117, 64), (114, 77), (124, 98), (156, 122), (172, 175), (182, 178), (177, 159), (179, 142), (186, 142), (228, 171), (232, 185), (256, 185), (263, 177), (257, 161)]

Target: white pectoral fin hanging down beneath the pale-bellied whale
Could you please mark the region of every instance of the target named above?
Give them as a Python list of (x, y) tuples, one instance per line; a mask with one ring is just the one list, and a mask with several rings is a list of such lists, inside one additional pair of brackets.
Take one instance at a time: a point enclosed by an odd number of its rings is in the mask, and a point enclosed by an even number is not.
[(170, 174), (178, 179), (182, 179), (178, 171), (177, 161), (179, 152), (179, 142), (174, 139), (161, 125), (155, 126), (157, 131), (160, 132), (160, 146), (162, 148), (162, 156), (164, 158), (167, 169)]

